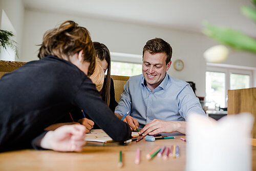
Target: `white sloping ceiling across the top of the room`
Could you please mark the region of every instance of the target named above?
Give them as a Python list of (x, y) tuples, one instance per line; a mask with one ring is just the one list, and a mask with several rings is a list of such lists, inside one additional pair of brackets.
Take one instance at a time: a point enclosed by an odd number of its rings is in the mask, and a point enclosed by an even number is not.
[(256, 24), (240, 7), (249, 0), (24, 0), (26, 9), (201, 32), (203, 21), (254, 36)]

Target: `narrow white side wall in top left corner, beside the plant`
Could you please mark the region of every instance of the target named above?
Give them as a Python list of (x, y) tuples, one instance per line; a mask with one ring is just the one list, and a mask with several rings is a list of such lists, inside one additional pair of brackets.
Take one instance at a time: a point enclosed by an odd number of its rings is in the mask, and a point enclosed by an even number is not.
[(2, 18), (2, 10), (5, 11), (14, 30), (15, 41), (17, 42), (18, 56), (16, 61), (22, 60), (22, 38), (23, 38), (23, 24), (24, 24), (24, 6), (21, 0), (0, 0), (0, 23)]

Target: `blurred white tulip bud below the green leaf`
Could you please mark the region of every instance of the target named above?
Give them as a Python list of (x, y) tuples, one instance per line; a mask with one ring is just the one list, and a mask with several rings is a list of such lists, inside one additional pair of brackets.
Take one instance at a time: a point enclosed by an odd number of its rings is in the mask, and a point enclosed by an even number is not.
[(223, 45), (213, 46), (204, 52), (204, 58), (207, 62), (218, 63), (226, 60), (228, 49)]

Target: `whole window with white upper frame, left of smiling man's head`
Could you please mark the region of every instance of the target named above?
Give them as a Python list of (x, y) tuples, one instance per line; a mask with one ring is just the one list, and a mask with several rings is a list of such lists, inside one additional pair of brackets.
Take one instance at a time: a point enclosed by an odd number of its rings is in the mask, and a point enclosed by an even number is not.
[(111, 52), (111, 75), (142, 74), (142, 55)]

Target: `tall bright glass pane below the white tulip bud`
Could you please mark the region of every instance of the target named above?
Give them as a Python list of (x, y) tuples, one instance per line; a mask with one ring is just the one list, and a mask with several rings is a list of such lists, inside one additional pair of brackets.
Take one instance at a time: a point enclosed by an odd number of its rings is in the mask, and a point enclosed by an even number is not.
[(225, 108), (225, 73), (207, 71), (205, 80), (205, 105), (208, 109)]

